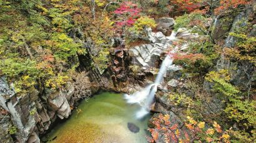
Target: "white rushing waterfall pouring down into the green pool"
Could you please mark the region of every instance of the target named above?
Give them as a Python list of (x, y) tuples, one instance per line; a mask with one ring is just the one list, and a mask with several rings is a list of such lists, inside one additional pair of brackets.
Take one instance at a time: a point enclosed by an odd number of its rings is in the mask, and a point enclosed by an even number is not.
[[(175, 50), (175, 49), (174, 49)], [(173, 53), (173, 52), (171, 52)], [(154, 100), (155, 92), (157, 91), (157, 86), (163, 79), (164, 74), (166, 73), (167, 68), (172, 65), (173, 59), (170, 55), (167, 55), (162, 62), (157, 78), (153, 84), (145, 87), (141, 91), (135, 92), (133, 95), (124, 95), (127, 103), (134, 104), (138, 103), (141, 106), (141, 109), (135, 114), (136, 118), (143, 118), (150, 111), (150, 106)]]

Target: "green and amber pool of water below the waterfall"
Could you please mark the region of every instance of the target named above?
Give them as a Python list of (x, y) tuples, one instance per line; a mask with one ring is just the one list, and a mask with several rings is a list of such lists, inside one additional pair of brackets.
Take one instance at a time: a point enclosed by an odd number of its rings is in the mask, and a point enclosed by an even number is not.
[[(43, 137), (47, 142), (147, 142), (147, 121), (135, 119), (139, 106), (127, 104), (121, 94), (103, 92), (75, 109), (71, 118)], [(139, 132), (130, 131), (129, 125)]]

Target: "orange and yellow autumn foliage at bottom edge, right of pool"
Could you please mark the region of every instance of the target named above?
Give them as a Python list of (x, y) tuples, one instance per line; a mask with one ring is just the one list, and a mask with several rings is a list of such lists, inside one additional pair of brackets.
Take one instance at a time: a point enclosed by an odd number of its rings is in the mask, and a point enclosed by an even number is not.
[(198, 122), (187, 116), (185, 128), (180, 129), (178, 124), (172, 124), (168, 114), (159, 114), (151, 123), (154, 128), (149, 128), (149, 142), (159, 142), (161, 136), (164, 136), (161, 137), (163, 142), (230, 142), (229, 131), (223, 131), (215, 121), (212, 126), (205, 126), (205, 122)]

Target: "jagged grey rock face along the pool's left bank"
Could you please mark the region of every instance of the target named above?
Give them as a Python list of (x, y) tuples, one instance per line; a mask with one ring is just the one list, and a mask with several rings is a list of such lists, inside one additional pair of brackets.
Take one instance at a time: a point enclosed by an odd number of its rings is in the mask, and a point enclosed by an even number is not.
[[(4, 77), (0, 78), (0, 109), (6, 111), (6, 116), (0, 114), (1, 141), (39, 143), (39, 134), (46, 132), (57, 117), (69, 117), (70, 106), (74, 103), (71, 83), (62, 90), (45, 88), (42, 93), (40, 91), (31, 87), (27, 95), (17, 96)], [(16, 141), (6, 134), (10, 127), (16, 128), (13, 135)]]

